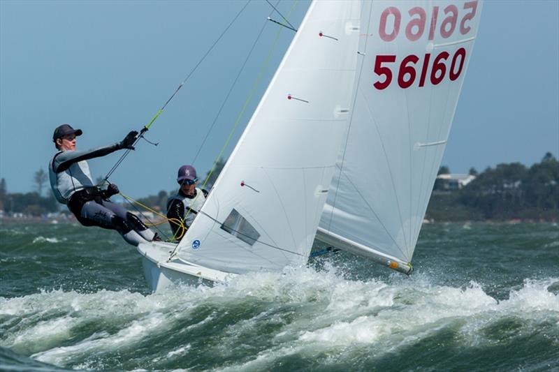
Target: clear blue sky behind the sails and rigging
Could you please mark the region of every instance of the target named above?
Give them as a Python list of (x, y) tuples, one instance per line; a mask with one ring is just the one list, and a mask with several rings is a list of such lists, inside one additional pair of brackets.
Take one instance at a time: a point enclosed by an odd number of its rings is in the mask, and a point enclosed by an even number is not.
[[(245, 3), (0, 0), (0, 178), (8, 192), (34, 190), (34, 172), (47, 170), (55, 154), (59, 124), (82, 129), (78, 149), (142, 128)], [(277, 8), (297, 27), (308, 4), (280, 1)], [(123, 193), (170, 191), (182, 164), (194, 163), (203, 176), (238, 121), (224, 148), (231, 153), (293, 38), (282, 29), (240, 116), (278, 31), (266, 20), (272, 10), (251, 1), (194, 70), (147, 133), (159, 145), (140, 142), (112, 175)], [(547, 151), (559, 156), (559, 1), (485, 1), (442, 164), (454, 173), (530, 166)], [(89, 161), (93, 177), (117, 159)]]

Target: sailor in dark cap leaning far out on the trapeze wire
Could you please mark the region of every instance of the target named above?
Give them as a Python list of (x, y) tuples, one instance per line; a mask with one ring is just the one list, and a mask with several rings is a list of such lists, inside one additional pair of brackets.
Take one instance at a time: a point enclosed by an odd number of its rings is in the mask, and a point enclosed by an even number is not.
[(55, 129), (52, 141), (59, 150), (49, 163), (50, 187), (55, 198), (74, 214), (84, 226), (99, 226), (117, 230), (129, 244), (138, 246), (157, 237), (135, 215), (124, 207), (110, 202), (119, 193), (115, 184), (106, 190), (94, 185), (89, 173), (88, 159), (106, 156), (120, 149), (134, 149), (138, 132), (131, 131), (124, 140), (106, 147), (88, 151), (75, 151), (75, 139), (82, 135), (81, 129), (62, 124)]

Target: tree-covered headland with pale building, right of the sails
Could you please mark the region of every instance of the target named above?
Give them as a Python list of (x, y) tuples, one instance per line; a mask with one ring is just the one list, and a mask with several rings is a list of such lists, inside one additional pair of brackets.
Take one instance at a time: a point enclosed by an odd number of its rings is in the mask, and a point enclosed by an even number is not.
[[(449, 173), (447, 167), (440, 170)], [(435, 221), (559, 220), (559, 161), (550, 152), (527, 168), (521, 163), (499, 164), (477, 174), (454, 191), (435, 188), (426, 217)], [(438, 192), (437, 192), (438, 191)]]

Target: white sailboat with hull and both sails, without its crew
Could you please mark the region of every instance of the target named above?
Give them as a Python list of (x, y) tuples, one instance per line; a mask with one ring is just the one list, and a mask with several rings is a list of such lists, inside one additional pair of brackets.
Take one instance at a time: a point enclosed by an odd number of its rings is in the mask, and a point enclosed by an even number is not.
[(409, 274), (482, 1), (313, 1), (152, 290), (305, 265), (314, 239)]

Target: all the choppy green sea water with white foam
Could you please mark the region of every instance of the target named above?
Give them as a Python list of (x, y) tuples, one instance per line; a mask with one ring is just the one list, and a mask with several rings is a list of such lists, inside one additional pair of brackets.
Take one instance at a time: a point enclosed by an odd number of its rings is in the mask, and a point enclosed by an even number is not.
[(135, 248), (0, 225), (1, 371), (559, 371), (559, 228), (423, 227), (404, 276), (340, 252), (152, 294)]

